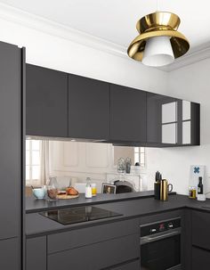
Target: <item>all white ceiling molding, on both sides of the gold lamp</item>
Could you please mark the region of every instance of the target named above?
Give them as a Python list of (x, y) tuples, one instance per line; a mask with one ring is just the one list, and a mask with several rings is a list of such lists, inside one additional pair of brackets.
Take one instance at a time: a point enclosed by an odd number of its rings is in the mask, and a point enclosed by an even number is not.
[[(126, 53), (125, 46), (117, 45), (100, 37), (95, 37), (52, 20), (44, 19), (43, 17), (22, 11), (8, 4), (0, 4), (0, 19), (18, 23), (22, 26), (36, 29), (37, 31), (41, 31), (55, 37), (61, 37), (80, 45), (89, 46), (102, 52), (111, 53), (130, 61)], [(187, 53), (181, 58), (175, 60), (174, 63), (166, 67), (158, 68), (158, 70), (170, 72), (181, 69), (182, 67), (188, 66), (197, 61), (205, 60), (209, 57), (210, 43), (194, 48), (190, 53)]]

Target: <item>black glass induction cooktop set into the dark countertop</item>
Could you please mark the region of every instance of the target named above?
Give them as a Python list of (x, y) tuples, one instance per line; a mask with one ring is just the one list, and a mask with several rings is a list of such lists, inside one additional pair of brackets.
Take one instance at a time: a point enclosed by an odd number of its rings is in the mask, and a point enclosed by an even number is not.
[(57, 221), (62, 225), (70, 225), (97, 219), (123, 216), (122, 214), (93, 206), (49, 210), (41, 212), (40, 215)]

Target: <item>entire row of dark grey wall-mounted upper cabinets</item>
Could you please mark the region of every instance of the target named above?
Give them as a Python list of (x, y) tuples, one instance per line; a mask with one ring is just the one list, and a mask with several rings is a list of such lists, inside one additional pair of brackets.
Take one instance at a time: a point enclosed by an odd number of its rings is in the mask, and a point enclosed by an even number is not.
[(199, 145), (199, 104), (27, 65), (27, 135)]

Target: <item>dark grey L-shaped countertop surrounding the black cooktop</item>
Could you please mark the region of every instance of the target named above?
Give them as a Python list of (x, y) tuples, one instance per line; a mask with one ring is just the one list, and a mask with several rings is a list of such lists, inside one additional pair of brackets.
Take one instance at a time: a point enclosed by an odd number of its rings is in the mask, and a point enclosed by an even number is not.
[[(141, 217), (175, 209), (190, 208), (210, 212), (210, 200), (190, 200), (187, 196), (184, 195), (173, 195), (169, 196), (168, 201), (160, 201), (154, 200), (152, 192), (148, 192), (147, 194), (148, 195), (144, 193), (141, 196), (141, 192), (135, 192), (130, 193), (129, 195), (128, 193), (118, 194), (119, 196), (110, 195), (109, 198), (106, 194), (98, 194), (96, 198), (93, 198), (91, 200), (86, 200), (85, 197), (80, 196), (80, 199), (70, 200), (70, 202), (69, 200), (59, 200), (53, 202), (53, 204), (52, 201), (45, 202), (43, 200), (41, 202), (41, 200), (33, 201), (32, 198), (27, 198), (26, 205), (28, 214), (26, 215), (26, 234), (28, 237), (33, 237), (36, 235), (58, 233), (61, 231), (67, 231), (76, 228), (78, 229), (90, 225), (100, 225), (102, 223), (110, 222), (112, 220)], [(33, 205), (35, 205), (35, 209), (32, 209)], [(120, 213), (123, 216), (111, 217), (107, 219), (101, 219), (74, 225), (61, 225), (60, 223), (52, 221), (51, 219), (43, 217), (37, 213), (40, 210), (61, 209), (67, 207), (76, 207), (79, 205), (94, 205), (100, 207), (101, 209), (108, 209)]]

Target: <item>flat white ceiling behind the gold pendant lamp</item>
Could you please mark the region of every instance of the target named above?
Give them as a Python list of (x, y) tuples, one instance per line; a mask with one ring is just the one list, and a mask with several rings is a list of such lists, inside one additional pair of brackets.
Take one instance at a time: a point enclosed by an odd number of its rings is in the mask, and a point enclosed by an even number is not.
[[(137, 36), (136, 21), (157, 10), (157, 0), (0, 0), (117, 45), (127, 47)], [(181, 18), (179, 30), (191, 48), (210, 42), (209, 0), (158, 0), (159, 10)]]

